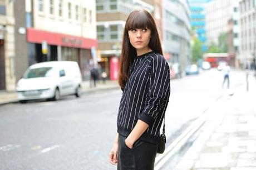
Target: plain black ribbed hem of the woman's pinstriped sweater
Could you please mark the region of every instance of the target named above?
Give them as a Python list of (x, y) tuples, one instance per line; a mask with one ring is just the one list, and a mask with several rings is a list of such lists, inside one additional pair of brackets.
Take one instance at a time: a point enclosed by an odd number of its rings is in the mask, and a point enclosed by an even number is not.
[[(129, 136), (129, 134), (131, 133), (131, 131), (129, 131), (129, 130), (127, 130), (127, 129), (124, 129), (124, 128), (122, 128), (122, 127), (117, 126), (117, 133), (119, 133), (119, 134), (122, 135), (122, 136), (127, 137), (127, 136)], [(149, 143), (158, 144), (158, 142), (159, 142), (159, 136), (160, 136), (160, 132), (158, 133), (157, 136), (152, 136), (152, 135), (150, 135), (149, 133), (144, 132), (144, 133), (141, 135), (140, 139), (141, 139), (141, 141), (145, 141), (145, 142), (149, 142)]]

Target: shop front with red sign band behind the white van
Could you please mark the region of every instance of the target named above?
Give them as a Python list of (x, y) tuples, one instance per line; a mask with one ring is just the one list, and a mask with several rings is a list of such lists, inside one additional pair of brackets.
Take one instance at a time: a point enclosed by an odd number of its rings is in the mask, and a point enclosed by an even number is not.
[(97, 40), (27, 28), (29, 65), (44, 61), (76, 61), (83, 80), (90, 79), (92, 48)]

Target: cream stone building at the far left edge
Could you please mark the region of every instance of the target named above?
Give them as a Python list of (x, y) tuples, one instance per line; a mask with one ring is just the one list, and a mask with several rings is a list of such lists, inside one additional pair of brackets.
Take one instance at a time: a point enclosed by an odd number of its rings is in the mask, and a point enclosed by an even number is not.
[(0, 91), (14, 91), (16, 84), (13, 2), (0, 1)]

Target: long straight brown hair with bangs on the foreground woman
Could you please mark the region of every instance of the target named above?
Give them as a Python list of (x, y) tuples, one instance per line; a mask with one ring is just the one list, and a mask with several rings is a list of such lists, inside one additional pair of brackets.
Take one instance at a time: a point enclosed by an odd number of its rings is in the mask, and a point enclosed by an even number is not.
[(127, 82), (129, 68), (134, 61), (134, 58), (137, 56), (136, 49), (130, 43), (128, 31), (140, 28), (147, 28), (151, 30), (149, 48), (152, 49), (152, 51), (163, 55), (156, 24), (151, 14), (145, 9), (132, 11), (126, 20), (124, 36), (122, 38), (122, 51), (118, 76), (119, 85), (122, 89), (125, 87), (125, 83)]

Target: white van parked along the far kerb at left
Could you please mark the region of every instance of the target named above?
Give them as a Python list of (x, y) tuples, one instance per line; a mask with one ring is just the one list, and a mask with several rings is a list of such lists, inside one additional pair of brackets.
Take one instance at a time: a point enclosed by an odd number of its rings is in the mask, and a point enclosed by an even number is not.
[(16, 87), (18, 100), (58, 100), (61, 96), (81, 96), (81, 72), (77, 62), (51, 61), (33, 64), (19, 79)]

